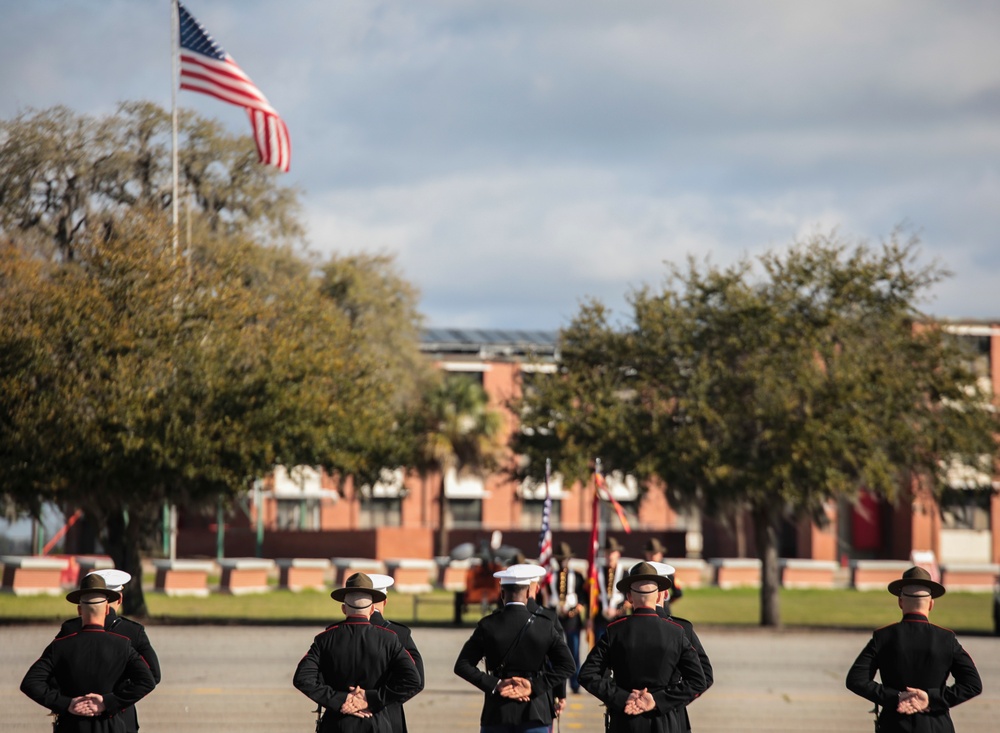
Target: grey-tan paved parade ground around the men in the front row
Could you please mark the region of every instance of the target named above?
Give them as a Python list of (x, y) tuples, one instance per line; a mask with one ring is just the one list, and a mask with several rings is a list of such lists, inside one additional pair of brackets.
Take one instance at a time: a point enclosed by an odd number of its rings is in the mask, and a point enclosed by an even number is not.
[[(151, 626), (163, 681), (139, 703), (144, 733), (312, 731), (313, 705), (292, 687), (295, 665), (321, 629), (270, 626)], [(0, 627), (3, 731), (48, 733), (47, 711), (18, 689), (55, 626)], [(427, 684), (406, 704), (411, 733), (478, 731), (482, 693), (452, 672), (471, 629), (417, 628)], [(869, 635), (857, 632), (700, 629), (715, 685), (690, 707), (696, 733), (871, 731), (871, 705), (844, 687)], [(983, 677), (980, 697), (952, 711), (959, 733), (1000, 730), (1000, 638), (963, 637)], [(571, 695), (566, 733), (598, 733), (602, 708)]]

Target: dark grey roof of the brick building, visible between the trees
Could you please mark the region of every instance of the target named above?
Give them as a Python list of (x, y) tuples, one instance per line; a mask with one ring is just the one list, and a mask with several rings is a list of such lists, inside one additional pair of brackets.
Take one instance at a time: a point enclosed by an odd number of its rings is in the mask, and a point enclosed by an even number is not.
[(426, 328), (420, 335), (425, 354), (486, 357), (559, 358), (558, 331), (483, 328)]

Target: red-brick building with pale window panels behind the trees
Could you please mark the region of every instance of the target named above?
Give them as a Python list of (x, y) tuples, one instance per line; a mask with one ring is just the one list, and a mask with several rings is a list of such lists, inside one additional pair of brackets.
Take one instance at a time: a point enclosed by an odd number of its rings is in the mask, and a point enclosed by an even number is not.
[[(954, 323), (948, 331), (968, 355), (984, 386), (1000, 384), (1000, 326)], [(448, 378), (479, 383), (490, 404), (516, 425), (507, 405), (529, 385), (533, 375), (552, 372), (559, 359), (557, 333), (549, 331), (445, 330), (423, 333), (421, 349)], [(891, 506), (868, 495), (857, 504), (831, 502), (829, 522), (789, 522), (780, 555), (789, 558), (846, 561), (905, 559), (913, 550), (931, 550), (942, 562), (1000, 562), (1000, 494), (994, 470), (955, 467), (942, 508), (929, 495), (908, 497)], [(754, 555), (750, 523), (700, 517), (675, 511), (662, 487), (641, 488), (629, 476), (608, 483), (635, 530), (618, 533), (626, 553), (641, 555), (651, 536), (668, 546), (671, 557)], [(483, 479), (454, 472), (421, 477), (397, 470), (366, 491), (352, 480), (340, 482), (308, 467), (279, 469), (265, 479), (260, 500), (243, 516), (227, 522), (225, 554), (253, 555), (255, 523), (263, 530), (263, 554), (290, 556), (364, 556), (429, 558), (461, 542), (477, 542), (500, 530), (504, 542), (531, 556), (537, 548), (543, 489), (505, 474)], [(591, 486), (564, 487), (556, 480), (552, 526), (558, 540), (585, 554), (590, 530)], [(258, 519), (258, 506), (260, 515)], [(445, 508), (446, 537), (441, 516)], [(611, 532), (620, 530), (612, 513)], [(211, 555), (216, 535), (208, 527), (182, 528), (181, 555)]]

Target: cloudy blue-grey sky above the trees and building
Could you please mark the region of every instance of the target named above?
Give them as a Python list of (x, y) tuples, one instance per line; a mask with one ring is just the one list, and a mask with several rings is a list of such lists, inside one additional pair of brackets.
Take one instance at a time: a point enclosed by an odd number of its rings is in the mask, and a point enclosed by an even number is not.
[[(169, 107), (169, 0), (0, 5), (0, 117)], [(953, 273), (926, 312), (1000, 321), (1000, 3), (185, 6), (287, 122), (309, 247), (394, 255), (427, 325), (625, 318), (667, 263), (899, 227)]]

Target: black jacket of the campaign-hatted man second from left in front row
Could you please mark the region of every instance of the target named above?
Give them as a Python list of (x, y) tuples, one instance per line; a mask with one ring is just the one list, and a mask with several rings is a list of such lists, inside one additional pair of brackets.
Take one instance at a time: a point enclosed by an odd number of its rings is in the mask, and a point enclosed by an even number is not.
[[(422, 687), (417, 666), (399, 637), (389, 629), (373, 626), (363, 616), (349, 616), (313, 639), (295, 668), (292, 683), (326, 708), (320, 733), (388, 733), (389, 718), (382, 714), (383, 709), (406, 702)], [(374, 717), (358, 718), (340, 712), (351, 687), (365, 690)]]

